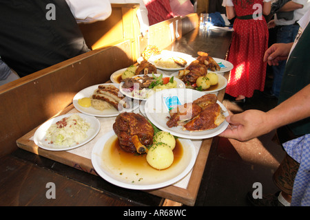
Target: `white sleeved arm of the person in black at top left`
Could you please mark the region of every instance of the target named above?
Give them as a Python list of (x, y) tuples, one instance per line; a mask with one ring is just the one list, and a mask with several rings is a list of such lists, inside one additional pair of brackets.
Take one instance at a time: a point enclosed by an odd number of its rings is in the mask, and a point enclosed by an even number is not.
[(109, 0), (65, 0), (77, 23), (104, 21), (112, 13)]

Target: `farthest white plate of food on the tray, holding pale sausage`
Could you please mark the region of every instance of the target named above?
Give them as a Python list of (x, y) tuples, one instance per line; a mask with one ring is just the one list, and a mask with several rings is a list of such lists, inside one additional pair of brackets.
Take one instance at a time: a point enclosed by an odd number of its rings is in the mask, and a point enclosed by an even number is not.
[(189, 64), (195, 60), (195, 58), (188, 54), (163, 51), (161, 54), (151, 56), (148, 61), (158, 69), (163, 69), (165, 71), (178, 71), (188, 67)]

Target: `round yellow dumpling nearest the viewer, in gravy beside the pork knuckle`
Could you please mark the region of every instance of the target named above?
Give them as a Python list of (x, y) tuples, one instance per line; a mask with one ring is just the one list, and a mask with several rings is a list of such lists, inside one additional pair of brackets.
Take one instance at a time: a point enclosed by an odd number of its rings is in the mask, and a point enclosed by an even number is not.
[(174, 162), (174, 153), (167, 144), (156, 143), (149, 148), (146, 159), (149, 166), (163, 170)]

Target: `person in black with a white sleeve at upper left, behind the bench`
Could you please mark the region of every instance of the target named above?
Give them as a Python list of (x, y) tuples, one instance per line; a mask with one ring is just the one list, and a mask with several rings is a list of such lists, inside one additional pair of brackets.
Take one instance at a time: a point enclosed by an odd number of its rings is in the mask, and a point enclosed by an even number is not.
[(89, 52), (78, 23), (110, 17), (108, 0), (0, 0), (0, 56), (19, 77)]

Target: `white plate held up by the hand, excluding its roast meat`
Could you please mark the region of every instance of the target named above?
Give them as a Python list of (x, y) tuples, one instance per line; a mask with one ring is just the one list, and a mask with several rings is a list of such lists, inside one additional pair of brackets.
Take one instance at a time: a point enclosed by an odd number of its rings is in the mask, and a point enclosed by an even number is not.
[[(158, 91), (153, 96), (149, 97), (145, 102), (145, 113), (147, 118), (163, 131), (167, 131), (172, 135), (183, 138), (190, 139), (203, 139), (214, 137), (220, 133), (222, 133), (228, 126), (228, 122), (224, 121), (220, 124), (216, 129), (206, 130), (206, 131), (183, 131), (183, 126), (175, 126), (169, 128), (167, 126), (167, 117), (169, 117), (169, 111), (166, 109), (163, 103), (163, 96), (178, 96), (180, 100), (180, 104), (185, 104), (187, 102), (193, 102), (197, 98), (205, 95), (205, 93), (201, 91), (197, 91), (194, 89), (169, 89), (169, 91)], [(229, 115), (227, 109), (224, 107), (222, 103), (220, 107), (223, 110), (223, 114), (226, 116)]]

